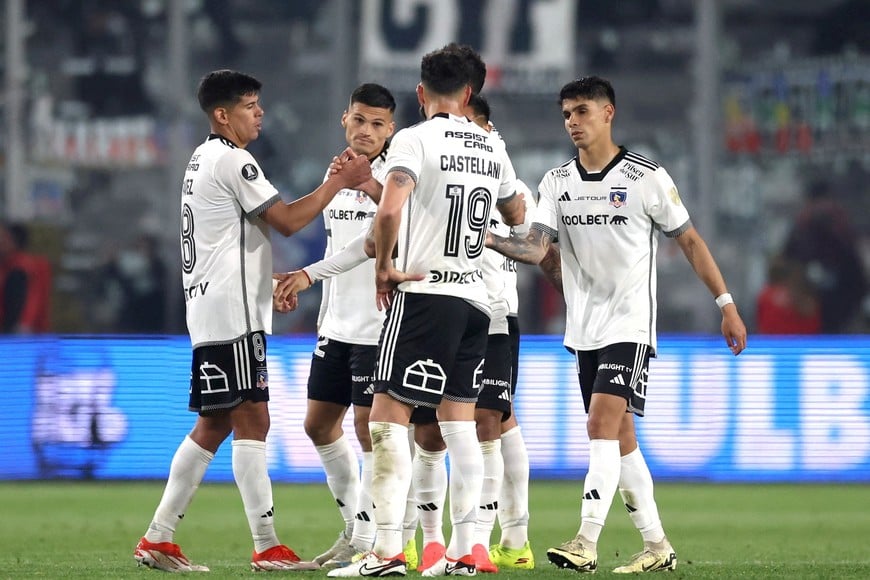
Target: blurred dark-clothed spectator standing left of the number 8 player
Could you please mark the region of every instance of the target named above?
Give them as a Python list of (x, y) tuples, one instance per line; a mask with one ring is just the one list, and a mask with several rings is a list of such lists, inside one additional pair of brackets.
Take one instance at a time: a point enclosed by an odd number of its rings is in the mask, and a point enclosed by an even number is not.
[(103, 266), (103, 293), (114, 303), (115, 330), (158, 334), (166, 327), (166, 265), (153, 236), (143, 235)]

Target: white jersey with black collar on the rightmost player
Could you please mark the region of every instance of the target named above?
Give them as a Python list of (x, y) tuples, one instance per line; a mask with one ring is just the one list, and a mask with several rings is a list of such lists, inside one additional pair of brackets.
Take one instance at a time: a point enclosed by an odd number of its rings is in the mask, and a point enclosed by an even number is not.
[(670, 175), (620, 148), (599, 173), (577, 158), (551, 169), (538, 192), (532, 227), (557, 237), (562, 253), (565, 345), (635, 342), (654, 352), (658, 231), (675, 237), (691, 225)]

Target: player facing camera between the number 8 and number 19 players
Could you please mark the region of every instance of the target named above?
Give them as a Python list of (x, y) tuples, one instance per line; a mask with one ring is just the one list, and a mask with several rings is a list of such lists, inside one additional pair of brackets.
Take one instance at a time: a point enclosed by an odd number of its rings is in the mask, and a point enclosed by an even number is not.
[[(384, 314), (372, 300), (374, 262), (365, 260), (346, 273), (330, 277), (326, 260), (368, 231), (381, 197), (387, 144), (395, 130), (393, 95), (374, 83), (357, 87), (341, 117), (347, 144), (369, 159), (374, 181), (367, 191), (344, 189), (326, 206), (323, 219), (327, 244), (324, 260), (302, 268), (309, 283), (323, 280), (317, 347), (308, 377), (305, 432), (326, 472), (326, 482), (344, 519), (335, 544), (314, 561), (324, 569), (350, 564), (374, 542), (371, 500), (372, 444), (369, 436), (370, 385)], [(327, 176), (328, 177), (328, 176)], [(276, 289), (277, 290), (277, 289)], [(363, 452), (362, 480), (356, 451), (342, 431), (348, 407), (354, 406), (354, 427)]]

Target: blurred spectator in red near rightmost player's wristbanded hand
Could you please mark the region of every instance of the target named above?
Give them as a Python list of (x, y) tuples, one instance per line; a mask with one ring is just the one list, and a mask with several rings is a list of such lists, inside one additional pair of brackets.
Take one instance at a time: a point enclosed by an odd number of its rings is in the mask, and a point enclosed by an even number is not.
[(774, 257), (767, 283), (756, 302), (759, 334), (818, 334), (822, 329), (819, 303), (803, 265)]

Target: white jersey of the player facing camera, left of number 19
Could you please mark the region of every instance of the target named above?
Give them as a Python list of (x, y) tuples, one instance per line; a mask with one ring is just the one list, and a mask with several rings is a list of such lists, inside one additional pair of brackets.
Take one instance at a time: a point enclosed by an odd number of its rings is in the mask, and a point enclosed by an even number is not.
[[(384, 182), (381, 153), (372, 161), (372, 175)], [(342, 189), (323, 211), (326, 224), (326, 252), (329, 258), (348, 242), (367, 231), (378, 205), (368, 195)], [(375, 262), (368, 260), (334, 278), (323, 281), (323, 298), (318, 316), (318, 334), (349, 344), (376, 345), (384, 323), (384, 313), (375, 302)]]

